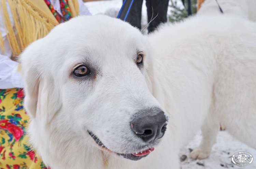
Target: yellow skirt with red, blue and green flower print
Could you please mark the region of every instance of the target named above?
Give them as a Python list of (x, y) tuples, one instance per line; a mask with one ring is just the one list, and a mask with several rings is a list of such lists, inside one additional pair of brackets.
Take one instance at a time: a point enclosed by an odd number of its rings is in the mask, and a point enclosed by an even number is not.
[(47, 169), (29, 147), (22, 89), (0, 90), (0, 169)]

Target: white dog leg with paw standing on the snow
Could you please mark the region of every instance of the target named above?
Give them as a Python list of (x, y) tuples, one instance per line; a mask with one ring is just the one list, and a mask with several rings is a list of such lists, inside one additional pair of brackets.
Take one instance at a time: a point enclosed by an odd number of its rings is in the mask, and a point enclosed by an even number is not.
[(208, 114), (201, 127), (203, 139), (199, 147), (195, 148), (190, 157), (193, 159), (207, 158), (212, 150), (212, 146), (216, 143), (216, 136), (219, 131), (219, 120), (212, 112)]

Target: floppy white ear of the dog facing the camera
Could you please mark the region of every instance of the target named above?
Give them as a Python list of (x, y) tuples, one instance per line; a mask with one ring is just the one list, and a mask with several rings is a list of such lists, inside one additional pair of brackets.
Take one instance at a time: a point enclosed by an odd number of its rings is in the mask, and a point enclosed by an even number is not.
[[(47, 55), (42, 50), (42, 39), (30, 44), (20, 55), (24, 84), (24, 107), (31, 118), (51, 120), (61, 107), (60, 92), (49, 73)], [(45, 120), (45, 121), (47, 121)]]

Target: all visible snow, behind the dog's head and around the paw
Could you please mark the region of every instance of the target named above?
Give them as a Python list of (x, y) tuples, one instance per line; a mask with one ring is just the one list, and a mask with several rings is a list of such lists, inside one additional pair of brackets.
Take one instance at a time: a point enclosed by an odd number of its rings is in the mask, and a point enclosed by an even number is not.
[[(179, 1), (179, 5), (182, 3)], [(104, 14), (116, 17), (122, 0), (94, 1), (86, 2), (92, 15)], [(168, 10), (170, 11), (170, 10)], [(170, 12), (168, 12), (170, 14)], [(142, 27), (147, 24), (146, 6), (142, 7)], [(197, 147), (201, 140), (201, 132), (198, 131), (194, 139), (185, 147), (182, 148), (180, 155), (186, 155), (185, 161), (181, 162), (182, 169), (256, 169), (256, 150), (239, 142), (226, 131), (220, 131), (217, 136), (217, 143), (213, 146), (212, 154), (209, 158), (203, 160), (192, 160), (189, 158), (191, 149)], [(189, 150), (190, 149), (190, 150)], [(254, 156), (254, 161), (251, 165), (238, 167), (231, 162), (231, 156), (239, 151), (246, 151)]]

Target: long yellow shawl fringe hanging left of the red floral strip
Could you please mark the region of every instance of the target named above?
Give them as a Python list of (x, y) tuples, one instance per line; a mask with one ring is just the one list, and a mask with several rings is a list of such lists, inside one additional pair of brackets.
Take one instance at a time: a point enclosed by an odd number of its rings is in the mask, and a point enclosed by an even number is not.
[[(6, 0), (1, 0), (3, 21), (13, 56), (18, 56), (31, 42), (44, 37), (55, 25), (37, 17), (36, 12), (27, 10), (29, 6), (23, 0), (8, 0), (13, 16), (14, 27), (11, 25)], [(15, 30), (15, 32), (14, 32)]]

